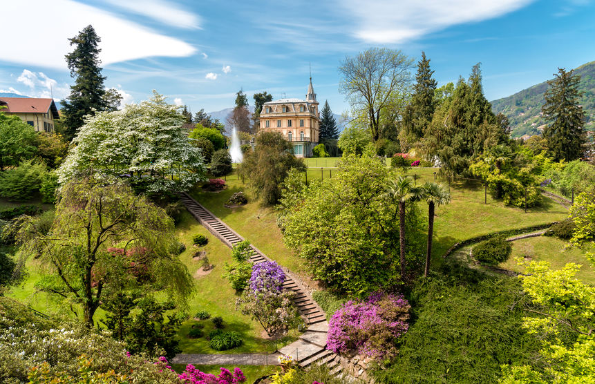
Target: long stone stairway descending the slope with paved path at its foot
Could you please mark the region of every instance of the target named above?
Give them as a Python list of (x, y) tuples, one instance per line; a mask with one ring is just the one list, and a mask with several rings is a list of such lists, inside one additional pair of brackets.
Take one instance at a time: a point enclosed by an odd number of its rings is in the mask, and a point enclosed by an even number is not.
[[(188, 193), (178, 193), (180, 201), (185, 205), (186, 209), (216, 238), (221, 240), (229, 248), (233, 248), (238, 242), (242, 242), (244, 238), (236, 231), (230, 228), (225, 222), (218, 219), (205, 207), (202, 207), (196, 200), (191, 198)], [(264, 253), (262, 253), (254, 245), (250, 261), (254, 263), (271, 261)], [(278, 352), (285, 355), (291, 355), (302, 367), (308, 367), (312, 363), (325, 363), (330, 367), (333, 374), (341, 374), (342, 366), (339, 365), (339, 358), (336, 354), (325, 349), (326, 336), (328, 332), (328, 322), (326, 321), (326, 314), (317, 305), (308, 291), (303, 287), (303, 284), (294, 276), (294, 274), (283, 267), (285, 271), (285, 282), (283, 287), (294, 291), (294, 303), (298, 308), (300, 316), (303, 318), (308, 329), (301, 334), (299, 340), (296, 340), (290, 345), (279, 349)], [(265, 360), (263, 362), (263, 356)], [(272, 358), (274, 356), (274, 358)], [(178, 354), (173, 358), (173, 363), (176, 364), (196, 364), (196, 365), (219, 365), (219, 364), (238, 364), (238, 365), (265, 365), (268, 358), (269, 365), (277, 364), (276, 358), (278, 354), (263, 355), (263, 354)]]

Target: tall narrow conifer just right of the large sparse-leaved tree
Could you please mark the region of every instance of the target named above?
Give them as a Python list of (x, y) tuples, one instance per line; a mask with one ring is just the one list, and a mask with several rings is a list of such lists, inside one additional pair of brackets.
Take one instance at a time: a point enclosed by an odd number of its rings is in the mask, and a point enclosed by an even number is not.
[(422, 51), (422, 59), (417, 62), (417, 74), (413, 98), (403, 116), (403, 128), (410, 140), (417, 141), (424, 136), (427, 126), (432, 122), (435, 110), (434, 91), (437, 81), (432, 78), (430, 59)]

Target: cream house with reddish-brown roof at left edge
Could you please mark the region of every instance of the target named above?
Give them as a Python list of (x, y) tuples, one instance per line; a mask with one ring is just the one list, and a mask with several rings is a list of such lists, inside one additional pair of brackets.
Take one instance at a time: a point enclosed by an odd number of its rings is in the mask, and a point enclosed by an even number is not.
[(54, 132), (55, 120), (60, 118), (54, 99), (0, 97), (1, 106), (6, 107), (0, 108), (1, 112), (20, 117), (37, 132)]

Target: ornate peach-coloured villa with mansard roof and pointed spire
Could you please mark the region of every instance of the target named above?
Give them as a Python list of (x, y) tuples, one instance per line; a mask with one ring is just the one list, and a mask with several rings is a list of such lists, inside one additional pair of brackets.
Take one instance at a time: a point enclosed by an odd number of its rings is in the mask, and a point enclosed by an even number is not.
[(318, 105), (310, 77), (305, 100), (279, 99), (263, 105), (259, 117), (260, 129), (281, 133), (292, 144), (296, 157), (310, 157), (319, 140)]

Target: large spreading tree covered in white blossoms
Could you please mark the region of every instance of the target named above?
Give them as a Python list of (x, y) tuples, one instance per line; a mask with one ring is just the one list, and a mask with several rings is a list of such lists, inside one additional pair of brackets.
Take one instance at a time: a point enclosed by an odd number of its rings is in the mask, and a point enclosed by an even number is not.
[(133, 186), (159, 193), (187, 190), (205, 180), (201, 150), (182, 130), (185, 120), (178, 109), (153, 90), (153, 97), (140, 104), (87, 117), (57, 170), (59, 183), (93, 171), (106, 177), (129, 175)]

